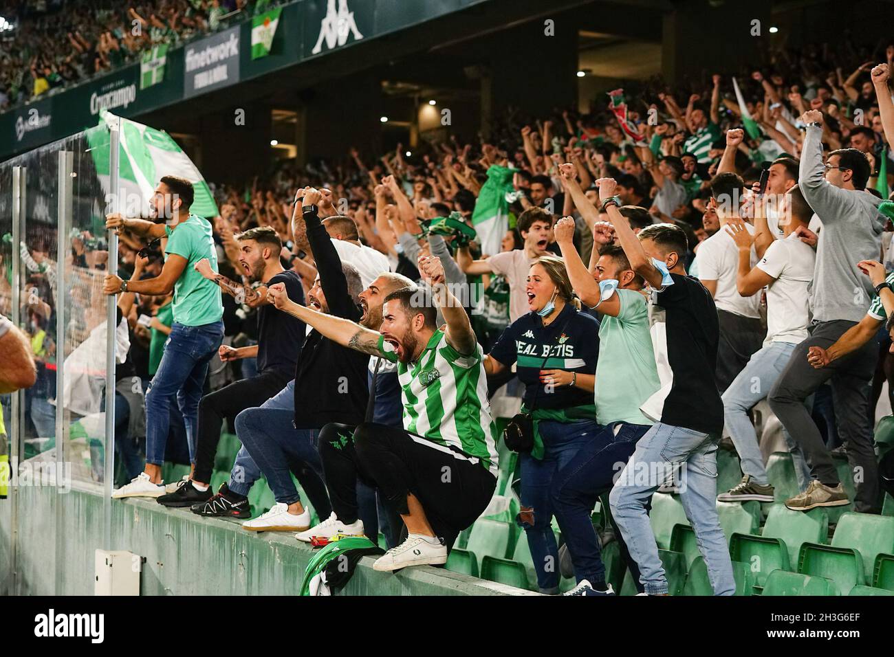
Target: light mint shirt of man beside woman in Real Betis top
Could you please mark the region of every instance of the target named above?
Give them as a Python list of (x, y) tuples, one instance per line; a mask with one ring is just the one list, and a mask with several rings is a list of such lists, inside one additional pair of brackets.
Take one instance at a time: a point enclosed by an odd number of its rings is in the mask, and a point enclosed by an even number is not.
[(645, 297), (618, 290), (620, 314), (603, 315), (596, 361), (596, 420), (601, 425), (628, 422), (652, 425), (639, 410), (660, 387)]

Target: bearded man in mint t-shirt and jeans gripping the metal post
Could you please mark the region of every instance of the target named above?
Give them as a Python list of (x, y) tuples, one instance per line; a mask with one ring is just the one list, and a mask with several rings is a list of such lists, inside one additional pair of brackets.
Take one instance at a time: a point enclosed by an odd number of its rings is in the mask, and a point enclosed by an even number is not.
[(150, 240), (167, 238), (164, 267), (156, 278), (122, 281), (105, 276), (105, 294), (137, 292), (166, 295), (173, 291), (173, 326), (164, 356), (146, 392), (146, 468), (130, 484), (112, 493), (114, 498), (159, 497), (164, 494), (162, 465), (168, 438), (171, 406), (176, 400), (186, 422), (190, 461), (195, 460), (198, 402), (208, 373), (208, 361), (223, 340), (223, 303), (220, 288), (194, 268), (207, 258), (217, 271), (217, 254), (211, 224), (190, 214), (192, 183), (163, 176), (150, 200), (153, 218), (129, 219), (107, 215), (105, 228), (132, 232)]

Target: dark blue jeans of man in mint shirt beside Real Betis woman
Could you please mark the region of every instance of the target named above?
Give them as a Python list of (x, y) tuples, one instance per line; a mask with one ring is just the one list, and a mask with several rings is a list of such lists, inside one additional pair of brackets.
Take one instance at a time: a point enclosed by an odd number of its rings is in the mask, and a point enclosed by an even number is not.
[[(637, 449), (648, 425), (607, 425), (552, 478), (552, 505), (578, 583), (605, 580), (599, 540), (591, 520), (596, 500), (611, 490), (614, 478)], [(620, 536), (619, 536), (620, 539)]]

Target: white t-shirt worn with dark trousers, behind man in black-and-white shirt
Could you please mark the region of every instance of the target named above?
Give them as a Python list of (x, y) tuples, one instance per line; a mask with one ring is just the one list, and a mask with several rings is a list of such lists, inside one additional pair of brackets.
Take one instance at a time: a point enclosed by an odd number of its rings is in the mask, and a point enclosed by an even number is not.
[[(753, 225), (746, 223), (745, 227), (752, 235), (755, 234)], [(723, 226), (721, 226), (721, 230), (699, 245), (696, 262), (698, 263), (699, 279), (717, 282), (714, 305), (718, 310), (725, 310), (743, 317), (760, 317), (761, 295), (743, 297), (738, 293), (736, 287), (738, 247)], [(752, 247), (750, 265), (755, 266), (755, 262), (757, 262), (757, 254), (755, 248)]]

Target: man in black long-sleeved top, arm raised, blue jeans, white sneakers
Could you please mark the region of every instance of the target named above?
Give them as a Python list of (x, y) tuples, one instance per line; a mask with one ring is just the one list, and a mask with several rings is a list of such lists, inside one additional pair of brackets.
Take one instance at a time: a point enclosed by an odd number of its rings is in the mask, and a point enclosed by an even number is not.
[[(308, 291), (309, 305), (350, 322), (363, 316), (358, 306), (360, 275), (353, 265), (342, 263), (318, 215), (318, 190), (308, 188), (303, 206), (296, 206), (307, 230), (308, 245), (316, 262), (316, 282)], [(297, 217), (293, 217), (293, 224)], [(280, 287), (277, 283), (274, 287)], [(285, 293), (283, 291), (283, 296)], [(317, 436), (325, 425), (363, 422), (369, 392), (369, 358), (311, 331), (295, 366), (294, 379), (261, 407), (245, 409), (236, 417), (236, 434), (253, 463), (264, 474), (276, 504), (264, 515), (242, 524), (243, 529), (304, 531), (310, 526), (310, 511), (300, 501), (291, 480), (290, 465), (306, 464), (322, 476), (316, 451)], [(239, 474), (234, 473), (234, 474)], [(253, 476), (257, 474), (253, 473)], [(311, 493), (308, 491), (308, 495)], [(210, 503), (210, 502), (209, 502)], [(320, 517), (329, 515), (328, 499), (311, 499)]]

